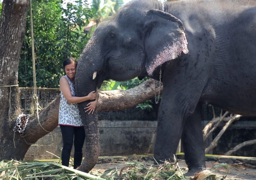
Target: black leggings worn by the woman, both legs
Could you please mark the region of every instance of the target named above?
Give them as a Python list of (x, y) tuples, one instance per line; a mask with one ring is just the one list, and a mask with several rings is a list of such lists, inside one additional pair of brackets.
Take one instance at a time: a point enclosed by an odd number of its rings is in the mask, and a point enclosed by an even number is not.
[(74, 139), (74, 169), (79, 167), (83, 158), (83, 145), (85, 139), (84, 127), (73, 127), (60, 125), (63, 140), (62, 165), (69, 166), (70, 153)]

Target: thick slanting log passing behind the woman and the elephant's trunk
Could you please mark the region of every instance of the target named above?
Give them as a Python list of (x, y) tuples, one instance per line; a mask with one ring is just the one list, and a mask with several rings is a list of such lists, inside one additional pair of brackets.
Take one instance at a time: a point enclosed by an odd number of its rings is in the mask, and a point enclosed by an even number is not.
[[(163, 91), (161, 86), (160, 92)], [(97, 111), (115, 111), (133, 107), (155, 96), (155, 80), (144, 81), (128, 90), (98, 91)], [(158, 89), (157, 89), (158, 92)], [(58, 125), (60, 95), (39, 112), (41, 126), (47, 131), (53, 131)], [(37, 115), (30, 117), (25, 133), (26, 141), (31, 144), (48, 134), (38, 123)]]

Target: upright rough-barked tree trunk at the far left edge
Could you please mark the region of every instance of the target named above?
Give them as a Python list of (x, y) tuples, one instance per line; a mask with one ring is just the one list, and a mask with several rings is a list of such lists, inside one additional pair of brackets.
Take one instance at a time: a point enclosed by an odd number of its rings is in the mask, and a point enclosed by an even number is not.
[[(14, 119), (20, 114), (18, 97), (18, 65), (27, 19), (27, 0), (4, 0), (0, 20), (0, 159), (20, 159), (29, 145), (16, 138), (16, 148), (12, 139)], [(7, 85), (4, 87), (3, 85)], [(11, 85), (16, 85), (8, 87)], [(9, 95), (11, 94), (11, 102)], [(20, 142), (20, 143), (18, 143)]]

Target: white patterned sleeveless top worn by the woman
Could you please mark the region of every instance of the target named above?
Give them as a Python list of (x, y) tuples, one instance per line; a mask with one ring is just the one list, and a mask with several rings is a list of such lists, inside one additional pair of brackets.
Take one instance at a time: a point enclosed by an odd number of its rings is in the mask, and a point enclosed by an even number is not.
[[(70, 81), (67, 75), (63, 77), (68, 80), (71, 94), (75, 96), (75, 85)], [(62, 92), (60, 93), (59, 125), (83, 126), (77, 103), (69, 103)]]

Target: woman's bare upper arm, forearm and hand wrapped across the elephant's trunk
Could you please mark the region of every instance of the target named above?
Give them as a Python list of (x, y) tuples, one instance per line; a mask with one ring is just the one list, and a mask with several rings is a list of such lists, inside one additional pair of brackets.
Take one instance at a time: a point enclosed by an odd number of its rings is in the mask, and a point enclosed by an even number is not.
[(59, 86), (60, 86), (60, 90), (62, 91), (64, 97), (67, 99), (67, 101), (69, 103), (78, 103), (78, 102), (83, 102), (86, 100), (93, 100), (96, 98), (95, 91), (92, 91), (87, 96), (83, 96), (83, 97), (72, 96), (68, 80), (64, 77), (60, 78)]

